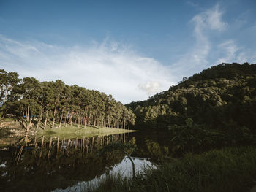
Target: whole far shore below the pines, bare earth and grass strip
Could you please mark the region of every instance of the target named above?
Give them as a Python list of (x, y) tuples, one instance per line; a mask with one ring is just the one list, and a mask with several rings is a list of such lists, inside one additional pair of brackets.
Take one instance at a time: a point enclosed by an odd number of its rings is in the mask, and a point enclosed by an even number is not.
[(78, 127), (76, 124), (72, 126), (67, 124), (66, 126), (55, 124), (55, 128), (52, 128), (52, 123), (48, 122), (46, 129), (43, 129), (43, 125), (39, 125), (39, 128), (32, 126), (29, 131), (20, 126), (18, 121), (11, 118), (2, 119), (0, 122), (0, 145), (10, 144), (18, 140), (20, 137), (29, 136), (37, 137), (45, 135), (45, 137), (53, 137), (59, 139), (72, 139), (72, 138), (88, 138), (88, 137), (102, 137), (109, 134), (125, 134), (135, 132), (135, 130), (127, 130), (121, 128), (107, 128), (97, 126), (83, 126)]

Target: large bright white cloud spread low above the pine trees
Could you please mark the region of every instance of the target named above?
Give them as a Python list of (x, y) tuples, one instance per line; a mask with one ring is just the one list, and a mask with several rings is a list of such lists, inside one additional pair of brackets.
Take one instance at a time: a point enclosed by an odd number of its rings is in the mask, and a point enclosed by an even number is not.
[(173, 83), (166, 66), (110, 39), (89, 47), (60, 47), (0, 36), (0, 63), (22, 77), (61, 79), (112, 94), (123, 103), (147, 99)]

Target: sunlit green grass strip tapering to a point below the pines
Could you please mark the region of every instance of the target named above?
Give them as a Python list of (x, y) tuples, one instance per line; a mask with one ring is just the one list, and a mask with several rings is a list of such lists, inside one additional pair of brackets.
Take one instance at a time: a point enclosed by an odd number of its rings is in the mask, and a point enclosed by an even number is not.
[[(56, 126), (59, 126), (56, 124)], [(43, 130), (42, 128), (39, 128), (37, 135), (46, 135), (50, 137), (59, 137), (59, 139), (64, 138), (80, 138), (80, 137), (96, 137), (96, 136), (105, 136), (109, 134), (124, 134), (128, 132), (134, 132), (134, 130), (127, 130), (127, 129), (121, 129), (121, 128), (107, 128), (107, 127), (92, 127), (92, 126), (86, 126), (84, 128), (83, 126), (80, 126), (78, 128), (77, 125), (67, 125), (61, 126), (60, 128), (50, 128), (51, 123), (48, 123), (48, 126), (46, 127), (46, 130)]]

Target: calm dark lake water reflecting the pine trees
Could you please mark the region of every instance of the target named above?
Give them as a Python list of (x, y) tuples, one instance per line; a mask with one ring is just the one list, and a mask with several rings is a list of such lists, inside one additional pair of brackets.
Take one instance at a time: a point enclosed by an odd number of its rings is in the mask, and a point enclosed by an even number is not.
[(88, 185), (97, 186), (108, 174), (132, 177), (127, 155), (115, 148), (106, 150), (106, 146), (113, 142), (135, 145), (135, 150), (127, 151), (136, 172), (140, 172), (146, 166), (156, 166), (159, 156), (168, 155), (165, 139), (141, 132), (91, 138), (9, 139), (10, 145), (0, 147), (0, 191), (80, 191)]

